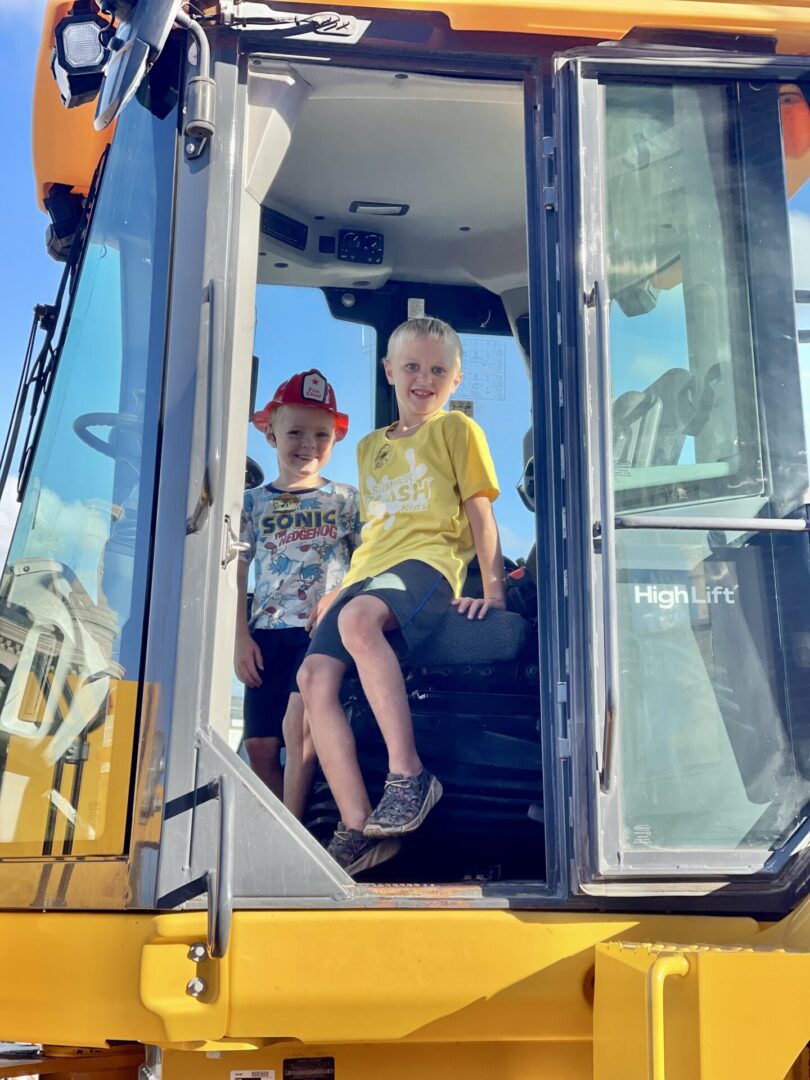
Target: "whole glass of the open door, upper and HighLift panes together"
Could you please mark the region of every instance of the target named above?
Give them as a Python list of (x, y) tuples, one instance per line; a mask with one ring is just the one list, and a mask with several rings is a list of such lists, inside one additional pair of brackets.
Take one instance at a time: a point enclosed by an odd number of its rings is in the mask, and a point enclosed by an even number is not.
[(661, 526), (616, 535), (625, 852), (773, 850), (810, 800), (808, 537), (732, 524), (807, 489), (799, 356), (761, 325), (791, 329), (788, 274), (757, 326), (781, 279), (754, 268), (784, 266), (779, 98), (753, 116), (747, 89), (606, 87), (616, 509)]

